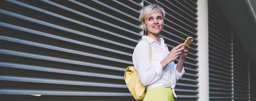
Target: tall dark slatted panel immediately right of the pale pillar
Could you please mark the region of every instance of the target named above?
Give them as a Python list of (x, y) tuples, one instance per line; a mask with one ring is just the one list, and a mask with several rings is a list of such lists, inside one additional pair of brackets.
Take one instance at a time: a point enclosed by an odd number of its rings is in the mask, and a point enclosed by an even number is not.
[(214, 0), (208, 0), (209, 100), (233, 100), (233, 33)]

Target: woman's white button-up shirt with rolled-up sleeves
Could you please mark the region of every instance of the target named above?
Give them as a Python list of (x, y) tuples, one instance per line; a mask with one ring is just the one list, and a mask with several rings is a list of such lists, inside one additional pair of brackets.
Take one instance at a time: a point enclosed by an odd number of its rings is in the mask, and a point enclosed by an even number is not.
[[(160, 62), (169, 54), (163, 38), (160, 37), (160, 43), (149, 36), (142, 36), (142, 39), (144, 40), (137, 44), (132, 56), (141, 83), (146, 86), (147, 90), (156, 87), (171, 87), (173, 95), (177, 98), (174, 88), (177, 80), (185, 73), (184, 67), (179, 73), (176, 70), (177, 64), (170, 62), (163, 70)], [(149, 44), (145, 39), (151, 44), (152, 59)]]

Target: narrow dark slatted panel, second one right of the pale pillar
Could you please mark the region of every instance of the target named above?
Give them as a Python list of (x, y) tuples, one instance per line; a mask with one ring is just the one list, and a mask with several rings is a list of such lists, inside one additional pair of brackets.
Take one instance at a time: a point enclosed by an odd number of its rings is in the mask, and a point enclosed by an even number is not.
[(249, 58), (236, 37), (233, 41), (233, 65), (234, 101), (249, 101)]

